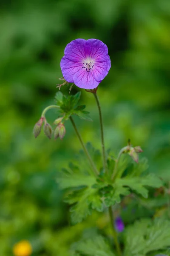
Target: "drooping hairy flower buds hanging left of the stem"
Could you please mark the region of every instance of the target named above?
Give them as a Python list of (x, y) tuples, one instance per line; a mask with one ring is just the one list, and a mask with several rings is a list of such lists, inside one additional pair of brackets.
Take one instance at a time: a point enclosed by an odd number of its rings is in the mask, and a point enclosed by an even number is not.
[[(44, 122), (44, 126), (43, 126), (43, 130), (44, 130), (44, 134), (51, 139), (53, 130), (51, 128), (51, 125), (47, 122), (47, 120), (45, 119), (45, 116), (42, 116), (40, 118), (40, 120), (35, 124), (34, 126), (34, 136), (35, 138), (38, 137), (38, 135), (40, 135), (41, 132), (41, 128), (42, 128), (42, 124)], [(56, 140), (58, 137), (62, 140), (65, 136), (65, 126), (62, 123), (62, 117), (56, 119), (54, 121), (54, 124), (57, 125), (57, 127), (54, 130), (54, 139)]]

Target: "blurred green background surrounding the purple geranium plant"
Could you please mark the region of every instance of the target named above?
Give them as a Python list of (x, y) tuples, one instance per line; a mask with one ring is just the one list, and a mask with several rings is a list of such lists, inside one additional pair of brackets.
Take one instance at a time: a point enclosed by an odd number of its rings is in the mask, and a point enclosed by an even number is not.
[[(32, 134), (54, 103), (64, 48), (76, 38), (97, 38), (109, 49), (111, 70), (98, 88), (107, 148), (118, 152), (130, 138), (150, 171), (170, 178), (170, 0), (1, 0), (1, 256), (11, 256), (21, 239), (31, 242), (33, 255), (68, 256), (85, 227), (102, 228), (96, 213), (70, 226), (57, 188), (57, 170), (80, 149), (69, 121), (63, 141)], [(100, 148), (94, 97), (81, 91), (94, 122), (75, 122), (84, 141)], [(52, 124), (55, 111), (46, 117)]]

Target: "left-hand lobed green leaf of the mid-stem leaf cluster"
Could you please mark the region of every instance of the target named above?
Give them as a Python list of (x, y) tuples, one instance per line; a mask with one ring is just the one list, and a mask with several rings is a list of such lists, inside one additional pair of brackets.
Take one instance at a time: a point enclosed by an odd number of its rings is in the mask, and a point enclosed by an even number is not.
[[(88, 149), (91, 152), (91, 157), (97, 161), (97, 156), (100, 156), (99, 151), (94, 150), (90, 144), (88, 144)], [(89, 163), (87, 163), (87, 159), (84, 158), (84, 154), (80, 154), (77, 158), (77, 165), (70, 163), (69, 169), (62, 169), (57, 174), (59, 187), (61, 189), (70, 189), (66, 193), (64, 201), (68, 204), (73, 204), (70, 208), (72, 224), (81, 222), (91, 214), (92, 209), (96, 209), (99, 212), (103, 210), (99, 191), (93, 187), (95, 182), (96, 177)]]

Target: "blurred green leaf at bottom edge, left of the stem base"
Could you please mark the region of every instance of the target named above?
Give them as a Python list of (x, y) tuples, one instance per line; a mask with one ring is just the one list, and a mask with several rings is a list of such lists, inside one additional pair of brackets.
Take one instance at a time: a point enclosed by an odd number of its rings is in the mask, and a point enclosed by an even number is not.
[(108, 242), (99, 235), (75, 243), (72, 250), (79, 256), (115, 256)]

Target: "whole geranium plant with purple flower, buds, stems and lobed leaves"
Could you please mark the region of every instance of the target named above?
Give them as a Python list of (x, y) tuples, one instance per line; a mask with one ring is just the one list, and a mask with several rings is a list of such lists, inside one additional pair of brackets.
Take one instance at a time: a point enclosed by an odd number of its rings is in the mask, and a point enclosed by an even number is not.
[(65, 122), (71, 122), (82, 151), (68, 169), (62, 169), (57, 173), (57, 183), (60, 189), (65, 190), (64, 201), (71, 205), (71, 222), (77, 224), (93, 211), (108, 212), (113, 234), (113, 239), (99, 233), (82, 237), (71, 246), (70, 254), (169, 255), (170, 221), (162, 218), (138, 219), (126, 227), (121, 217), (123, 207), (128, 207), (128, 200), (147, 204), (144, 198), (148, 198), (148, 193), (164, 188), (164, 184), (159, 177), (147, 171), (146, 158), (139, 160), (141, 147), (132, 146), (130, 140), (119, 151), (117, 157), (105, 149), (102, 111), (97, 89), (111, 68), (108, 47), (97, 39), (76, 39), (65, 47), (60, 66), (63, 83), (58, 85), (59, 89), (65, 84), (70, 84), (71, 88), (76, 85), (90, 92), (96, 100), (101, 128), (101, 152), (90, 143), (85, 145), (74, 122), (74, 115), (80, 119), (91, 120), (85, 105), (79, 104), (80, 92), (75, 95), (63, 95), (58, 91), (55, 104), (42, 111), (40, 120), (34, 126), (34, 136), (40, 134), (43, 125), (45, 135), (51, 138), (53, 129), (45, 118), (45, 113), (51, 108), (57, 109), (57, 116), (54, 116), (54, 139), (62, 140), (66, 134)]

